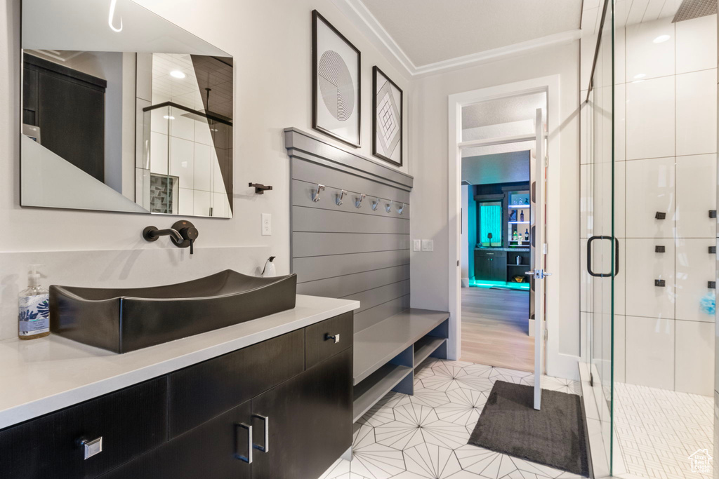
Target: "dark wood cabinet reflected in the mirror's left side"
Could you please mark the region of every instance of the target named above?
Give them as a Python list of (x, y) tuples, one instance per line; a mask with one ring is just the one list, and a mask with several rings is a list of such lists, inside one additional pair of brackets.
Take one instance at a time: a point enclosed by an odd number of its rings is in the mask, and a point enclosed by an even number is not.
[(40, 144), (105, 180), (107, 81), (24, 54), (22, 122), (40, 127)]

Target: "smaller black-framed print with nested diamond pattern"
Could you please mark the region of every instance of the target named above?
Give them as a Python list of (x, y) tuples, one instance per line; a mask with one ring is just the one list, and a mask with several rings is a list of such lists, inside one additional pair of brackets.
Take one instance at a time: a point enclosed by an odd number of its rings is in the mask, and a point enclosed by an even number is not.
[(402, 90), (372, 68), (372, 154), (402, 166)]

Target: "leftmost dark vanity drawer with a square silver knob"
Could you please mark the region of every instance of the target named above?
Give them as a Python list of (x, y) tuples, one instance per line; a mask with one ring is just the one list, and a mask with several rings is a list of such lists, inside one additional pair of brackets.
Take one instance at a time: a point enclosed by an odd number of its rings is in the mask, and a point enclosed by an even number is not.
[(167, 440), (167, 399), (163, 376), (0, 431), (0, 478), (96, 478)]

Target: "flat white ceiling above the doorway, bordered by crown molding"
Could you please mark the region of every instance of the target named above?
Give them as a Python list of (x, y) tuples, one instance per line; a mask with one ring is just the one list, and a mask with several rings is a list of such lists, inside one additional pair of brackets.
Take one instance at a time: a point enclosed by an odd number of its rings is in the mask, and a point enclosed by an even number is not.
[(582, 0), (361, 2), (416, 67), (576, 30), (582, 15)]

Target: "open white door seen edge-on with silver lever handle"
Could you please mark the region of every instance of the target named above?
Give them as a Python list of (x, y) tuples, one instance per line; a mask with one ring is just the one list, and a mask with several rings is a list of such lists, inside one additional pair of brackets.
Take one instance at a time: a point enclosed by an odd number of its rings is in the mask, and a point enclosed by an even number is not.
[(536, 111), (536, 146), (531, 184), (531, 286), (534, 301), (534, 409), (541, 406), (541, 376), (544, 374), (544, 276), (551, 273), (544, 271), (544, 215), (546, 213), (546, 147), (544, 144), (544, 124), (541, 108)]

